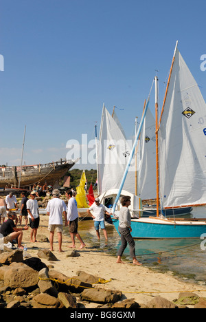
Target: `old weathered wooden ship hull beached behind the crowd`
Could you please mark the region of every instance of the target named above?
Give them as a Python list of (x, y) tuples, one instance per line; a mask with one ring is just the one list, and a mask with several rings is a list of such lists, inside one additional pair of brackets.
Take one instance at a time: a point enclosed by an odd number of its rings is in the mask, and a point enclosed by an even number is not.
[[(77, 160), (63, 160), (47, 164), (24, 165), (22, 167), (0, 167), (0, 187), (12, 187), (25, 189), (41, 182), (54, 185), (62, 178)], [(19, 185), (20, 182), (20, 185)]]

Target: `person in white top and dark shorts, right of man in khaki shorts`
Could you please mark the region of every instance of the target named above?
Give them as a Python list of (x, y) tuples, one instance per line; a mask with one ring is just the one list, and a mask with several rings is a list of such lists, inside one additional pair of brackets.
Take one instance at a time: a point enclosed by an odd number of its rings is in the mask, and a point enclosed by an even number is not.
[(72, 196), (72, 191), (66, 191), (66, 197), (68, 199), (67, 206), (67, 222), (69, 226), (69, 234), (71, 236), (72, 245), (69, 248), (76, 248), (75, 237), (77, 237), (81, 243), (80, 249), (86, 246), (82, 237), (78, 233), (78, 208), (76, 199)]

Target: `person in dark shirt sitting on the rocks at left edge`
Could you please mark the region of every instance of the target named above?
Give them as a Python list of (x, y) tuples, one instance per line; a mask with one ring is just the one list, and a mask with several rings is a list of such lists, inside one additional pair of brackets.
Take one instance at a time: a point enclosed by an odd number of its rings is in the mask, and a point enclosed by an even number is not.
[(4, 237), (4, 243), (8, 244), (8, 242), (12, 242), (14, 239), (18, 241), (18, 248), (23, 249), (21, 245), (22, 237), (23, 237), (23, 230), (27, 230), (28, 227), (25, 226), (24, 228), (16, 228), (14, 224), (14, 220), (16, 219), (16, 213), (13, 211), (8, 212), (8, 220), (3, 222), (0, 228), (0, 234)]

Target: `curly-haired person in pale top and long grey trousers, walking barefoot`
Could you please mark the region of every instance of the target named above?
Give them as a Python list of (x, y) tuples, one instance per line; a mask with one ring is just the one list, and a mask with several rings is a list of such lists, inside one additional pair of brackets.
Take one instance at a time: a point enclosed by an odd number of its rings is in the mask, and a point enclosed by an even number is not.
[(135, 256), (135, 241), (131, 235), (131, 215), (130, 211), (128, 210), (128, 206), (130, 206), (130, 197), (124, 196), (121, 199), (122, 208), (119, 211), (119, 234), (121, 237), (121, 246), (117, 252), (117, 263), (124, 264), (124, 261), (122, 261), (121, 257), (124, 253), (124, 250), (129, 244), (130, 246), (130, 256), (133, 258), (133, 264), (137, 266), (141, 266), (142, 264), (137, 261)]

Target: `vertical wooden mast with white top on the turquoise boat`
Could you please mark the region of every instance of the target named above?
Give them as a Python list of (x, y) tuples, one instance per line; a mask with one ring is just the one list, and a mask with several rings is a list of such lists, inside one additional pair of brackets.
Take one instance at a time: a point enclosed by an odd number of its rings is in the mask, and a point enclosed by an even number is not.
[(157, 217), (159, 217), (159, 142), (158, 142), (158, 78), (155, 76), (155, 118), (156, 118), (156, 178), (157, 178)]

